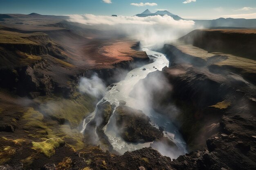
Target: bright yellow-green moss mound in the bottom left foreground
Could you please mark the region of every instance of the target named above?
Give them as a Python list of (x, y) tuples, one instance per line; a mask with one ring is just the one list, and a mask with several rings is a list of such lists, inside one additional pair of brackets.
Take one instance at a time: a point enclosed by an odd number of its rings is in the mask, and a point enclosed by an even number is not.
[(32, 142), (32, 144), (32, 149), (38, 150), (47, 157), (51, 157), (55, 154), (56, 148), (65, 145), (65, 141), (63, 141), (61, 138), (51, 138), (43, 142)]

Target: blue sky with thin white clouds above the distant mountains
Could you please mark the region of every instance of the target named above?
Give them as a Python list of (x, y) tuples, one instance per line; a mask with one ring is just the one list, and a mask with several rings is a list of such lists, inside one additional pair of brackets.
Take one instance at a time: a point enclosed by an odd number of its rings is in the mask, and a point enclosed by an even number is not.
[(256, 0), (0, 0), (0, 13), (132, 16), (146, 9), (185, 19), (256, 18)]

